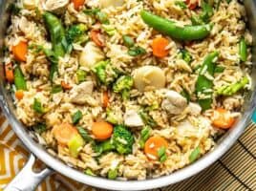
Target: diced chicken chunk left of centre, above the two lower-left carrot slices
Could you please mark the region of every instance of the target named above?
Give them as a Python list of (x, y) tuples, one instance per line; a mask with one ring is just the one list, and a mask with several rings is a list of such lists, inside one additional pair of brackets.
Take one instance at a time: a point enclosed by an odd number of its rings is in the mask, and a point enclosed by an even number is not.
[(75, 86), (71, 92), (71, 102), (76, 104), (85, 104), (88, 96), (92, 96), (94, 90), (94, 83), (92, 81), (85, 81)]

